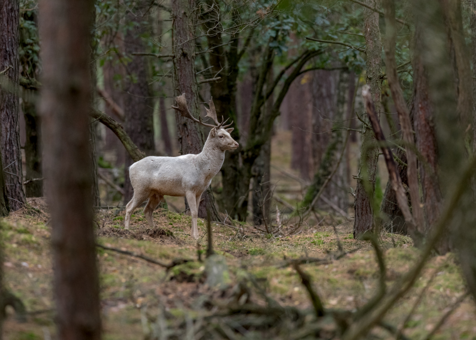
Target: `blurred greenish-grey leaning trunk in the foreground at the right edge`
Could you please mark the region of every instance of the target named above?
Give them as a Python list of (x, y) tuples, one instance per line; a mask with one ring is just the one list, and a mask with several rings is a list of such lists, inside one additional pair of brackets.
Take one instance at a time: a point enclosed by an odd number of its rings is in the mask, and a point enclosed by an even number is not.
[[(458, 8), (458, 6), (456, 6)], [(454, 190), (454, 183), (463, 176), (467, 163), (465, 149), (465, 117), (470, 113), (460, 111), (462, 99), (455, 93), (455, 72), (451, 67), (447, 46), (447, 31), (444, 22), (444, 8), (439, 2), (418, 0), (414, 4), (420, 27), (420, 43), (417, 53), (427, 75), (428, 97), (433, 109), (435, 137), (437, 145), (437, 165), (439, 187), (442, 197), (447, 199)], [(455, 10), (455, 7), (452, 6)], [(457, 16), (457, 13), (445, 13)], [(467, 76), (467, 75), (465, 75)], [(457, 109), (458, 108), (458, 109)], [(470, 108), (469, 108), (470, 109)], [(432, 174), (435, 175), (435, 174)], [(474, 178), (474, 172), (473, 172)], [(446, 225), (446, 235), (437, 245), (439, 253), (456, 250), (465, 276), (468, 290), (476, 297), (476, 214), (471, 186), (465, 188), (462, 198), (451, 211), (452, 220)], [(427, 208), (427, 207), (425, 207)], [(435, 226), (430, 225), (433, 229)]]

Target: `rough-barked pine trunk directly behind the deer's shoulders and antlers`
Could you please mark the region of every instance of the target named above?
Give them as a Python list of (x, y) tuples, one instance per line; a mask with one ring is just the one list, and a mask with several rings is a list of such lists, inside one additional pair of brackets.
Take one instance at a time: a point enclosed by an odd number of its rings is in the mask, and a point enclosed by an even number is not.
[[(195, 78), (195, 40), (193, 39), (195, 31), (192, 24), (197, 16), (195, 6), (195, 0), (172, 0), (172, 41), (175, 55), (172, 80), (174, 96), (185, 93), (190, 112), (198, 118), (200, 110), (198, 107), (197, 80)], [(200, 126), (188, 118), (181, 117), (177, 111), (175, 112), (175, 119), (177, 121), (180, 153), (182, 155), (200, 153), (204, 144), (204, 136)], [(202, 195), (202, 201), (198, 206), (198, 217), (206, 218), (207, 208), (210, 210), (210, 218), (217, 220), (218, 211), (213, 193), (209, 187)]]

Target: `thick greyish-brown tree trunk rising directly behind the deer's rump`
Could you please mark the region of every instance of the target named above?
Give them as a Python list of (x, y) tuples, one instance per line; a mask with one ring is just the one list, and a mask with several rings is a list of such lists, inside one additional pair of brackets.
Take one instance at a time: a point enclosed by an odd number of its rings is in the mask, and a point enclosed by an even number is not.
[[(129, 22), (139, 18), (147, 18), (149, 3), (141, 0), (127, 14)], [(132, 12), (133, 11), (133, 12)], [(126, 81), (124, 85), (124, 112), (126, 115), (125, 129), (130, 139), (138, 146), (139, 150), (150, 156), (154, 153), (154, 125), (153, 125), (153, 102), (149, 88), (148, 57), (132, 56), (131, 53), (143, 52), (146, 46), (140, 37), (147, 33), (144, 25), (134, 25), (124, 35), (124, 53), (132, 60), (125, 66)], [(124, 204), (132, 199), (132, 185), (129, 178), (129, 167), (134, 161), (126, 154), (124, 167)]]

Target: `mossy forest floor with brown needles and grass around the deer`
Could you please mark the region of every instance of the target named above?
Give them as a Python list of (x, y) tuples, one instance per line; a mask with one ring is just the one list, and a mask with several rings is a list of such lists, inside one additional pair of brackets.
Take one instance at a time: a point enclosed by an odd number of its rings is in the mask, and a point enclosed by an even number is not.
[[(8, 311), (4, 337), (9, 340), (55, 339), (49, 215), (43, 200), (30, 200), (30, 204), (39, 210), (17, 211), (3, 223), (5, 284), (23, 301), (28, 312), (27, 322), (21, 323), (13, 310)], [(354, 240), (352, 225), (339, 223), (338, 218), (329, 217), (314, 227), (303, 224), (298, 231), (293, 226), (283, 227), (278, 236), (236, 221), (227, 221), (233, 227), (212, 223), (214, 250), (226, 263), (221, 289), (210, 287), (204, 275), (207, 237), (203, 236), (203, 220), (199, 221), (201, 238), (197, 242), (189, 236), (188, 215), (157, 210), (155, 229), (149, 228), (140, 210), (133, 215), (130, 230), (123, 229), (123, 218), (124, 211), (119, 209), (98, 212), (95, 221), (99, 244), (164, 263), (174, 259), (190, 261), (166, 270), (146, 260), (98, 248), (102, 327), (107, 340), (144, 339), (154, 320), (163, 320), (158, 310), (173, 316), (165, 326), (173, 332), (174, 327), (187, 323), (178, 320), (215, 312), (210, 301), (219, 305), (233, 299), (242, 279), (249, 276), (258, 282), (262, 294), (281, 306), (310, 309), (307, 291), (296, 270), (288, 265), (289, 259), (327, 259), (301, 265), (310, 274), (326, 309), (356, 310), (377, 287), (375, 252), (368, 242)], [(337, 235), (332, 225), (337, 226)], [(339, 259), (333, 256), (341, 253), (338, 241), (347, 252)], [(391, 286), (411, 267), (419, 252), (409, 238), (401, 235), (382, 234), (380, 244), (388, 267), (386, 282)], [(203, 262), (198, 260), (198, 253)], [(454, 254), (435, 256), (414, 288), (387, 313), (387, 323), (401, 326), (429, 280), (421, 302), (405, 324), (403, 332), (410, 339), (423, 339), (465, 292)], [(244, 299), (263, 303), (262, 295), (255, 290), (250, 290)], [(476, 339), (475, 320), (475, 303), (467, 297), (434, 339)], [(381, 339), (395, 338), (383, 330), (375, 334)], [(251, 335), (250, 332), (245, 338), (256, 338)]]

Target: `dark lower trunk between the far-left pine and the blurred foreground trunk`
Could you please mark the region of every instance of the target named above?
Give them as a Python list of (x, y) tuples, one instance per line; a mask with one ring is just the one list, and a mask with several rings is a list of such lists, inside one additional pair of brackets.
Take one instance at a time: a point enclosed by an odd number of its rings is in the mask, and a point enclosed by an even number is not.
[[(25, 90), (30, 92), (30, 90)], [(26, 177), (25, 193), (26, 197), (41, 197), (43, 196), (43, 177), (42, 170), (42, 156), (41, 156), (41, 119), (37, 114), (36, 105), (29, 100), (30, 93), (25, 93), (23, 96), (22, 111), (25, 117), (25, 164)], [(31, 180), (30, 182), (28, 182)]]

